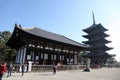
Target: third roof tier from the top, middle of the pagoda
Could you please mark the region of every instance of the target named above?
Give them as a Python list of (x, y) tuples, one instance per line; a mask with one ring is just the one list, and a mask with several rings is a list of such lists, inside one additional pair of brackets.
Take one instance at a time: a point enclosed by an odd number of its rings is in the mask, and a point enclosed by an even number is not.
[(83, 41), (83, 43), (88, 44), (88, 45), (98, 43), (98, 42), (99, 43), (110, 43), (111, 41), (108, 41), (108, 40), (106, 40), (105, 38), (102, 38), (102, 37), (96, 38), (94, 40)]

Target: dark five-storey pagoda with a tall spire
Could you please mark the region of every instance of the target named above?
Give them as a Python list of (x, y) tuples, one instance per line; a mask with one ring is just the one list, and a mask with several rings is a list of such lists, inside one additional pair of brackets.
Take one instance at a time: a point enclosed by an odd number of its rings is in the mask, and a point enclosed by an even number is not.
[(106, 63), (107, 59), (112, 57), (113, 55), (108, 54), (106, 51), (111, 50), (113, 48), (107, 47), (106, 44), (111, 41), (106, 40), (106, 37), (109, 37), (105, 33), (108, 29), (104, 28), (101, 24), (96, 24), (93, 14), (93, 24), (83, 29), (87, 35), (83, 35), (84, 38), (88, 39), (88, 41), (83, 41), (86, 45), (89, 45), (89, 51), (87, 55), (84, 55), (84, 58), (90, 58), (91, 63), (93, 64), (103, 64)]

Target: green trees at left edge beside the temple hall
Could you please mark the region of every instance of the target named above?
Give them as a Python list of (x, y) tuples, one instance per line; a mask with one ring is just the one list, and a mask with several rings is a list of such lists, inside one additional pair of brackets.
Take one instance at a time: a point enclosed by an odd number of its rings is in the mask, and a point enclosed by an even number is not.
[(16, 50), (6, 46), (6, 42), (11, 36), (10, 31), (0, 32), (0, 61), (13, 61)]

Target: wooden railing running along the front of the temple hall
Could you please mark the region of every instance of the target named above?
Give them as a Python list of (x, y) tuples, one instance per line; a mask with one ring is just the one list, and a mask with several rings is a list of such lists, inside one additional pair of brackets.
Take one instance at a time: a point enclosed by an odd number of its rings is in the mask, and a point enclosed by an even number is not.
[[(20, 66), (21, 65), (14, 65), (13, 71), (19, 72)], [(25, 66), (28, 66), (28, 65), (25, 65)], [(78, 69), (83, 69), (83, 68), (84, 66), (79, 66), (79, 65), (62, 65), (62, 66), (57, 67), (57, 70), (65, 71), (65, 70), (78, 70)], [(50, 72), (50, 71), (52, 71), (52, 65), (32, 65), (32, 70), (31, 70), (31, 72)]]

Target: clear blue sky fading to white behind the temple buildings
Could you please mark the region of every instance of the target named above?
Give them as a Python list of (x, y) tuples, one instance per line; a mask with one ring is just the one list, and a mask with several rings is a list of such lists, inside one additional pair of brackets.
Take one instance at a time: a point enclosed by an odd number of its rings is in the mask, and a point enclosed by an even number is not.
[(38, 27), (82, 42), (85, 29), (92, 25), (92, 10), (96, 24), (109, 29), (108, 40), (120, 61), (120, 0), (0, 0), (0, 31), (13, 31), (14, 24), (24, 28)]

